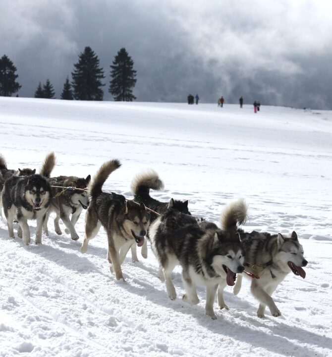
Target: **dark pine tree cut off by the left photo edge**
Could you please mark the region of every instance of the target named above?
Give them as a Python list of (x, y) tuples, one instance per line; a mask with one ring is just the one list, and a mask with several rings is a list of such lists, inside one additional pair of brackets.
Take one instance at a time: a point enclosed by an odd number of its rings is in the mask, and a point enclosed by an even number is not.
[(0, 96), (11, 97), (22, 87), (16, 82), (16, 70), (14, 63), (6, 55), (0, 58)]

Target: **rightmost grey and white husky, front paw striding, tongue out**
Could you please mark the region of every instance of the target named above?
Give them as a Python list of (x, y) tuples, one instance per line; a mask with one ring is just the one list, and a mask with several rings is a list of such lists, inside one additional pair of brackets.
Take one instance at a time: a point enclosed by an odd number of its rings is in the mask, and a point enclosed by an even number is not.
[[(245, 251), (245, 270), (251, 275), (251, 292), (260, 302), (257, 316), (265, 316), (266, 306), (273, 316), (280, 316), (272, 298), (273, 292), (290, 272), (303, 279), (306, 276), (302, 267), (308, 262), (297, 234), (292, 232), (290, 237), (285, 237), (280, 233), (271, 235), (253, 231), (240, 233), (240, 237)], [(235, 295), (239, 293), (241, 283), (242, 276), (239, 275), (233, 290)]]

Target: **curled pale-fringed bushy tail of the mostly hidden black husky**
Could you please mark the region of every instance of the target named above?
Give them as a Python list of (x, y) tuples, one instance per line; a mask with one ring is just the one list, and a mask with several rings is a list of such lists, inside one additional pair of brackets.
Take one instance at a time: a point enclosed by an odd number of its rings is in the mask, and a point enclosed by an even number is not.
[(136, 175), (131, 181), (130, 187), (133, 195), (137, 197), (143, 193), (149, 194), (150, 188), (154, 190), (163, 189), (164, 182), (155, 171), (148, 170)]

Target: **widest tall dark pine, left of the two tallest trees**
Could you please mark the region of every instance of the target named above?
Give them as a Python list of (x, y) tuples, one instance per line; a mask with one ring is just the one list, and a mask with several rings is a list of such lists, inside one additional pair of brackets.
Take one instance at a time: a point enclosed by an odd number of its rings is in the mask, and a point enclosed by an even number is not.
[(103, 68), (99, 67), (98, 56), (90, 47), (80, 53), (78, 62), (71, 72), (74, 98), (77, 100), (101, 101), (104, 97), (101, 80), (105, 78)]

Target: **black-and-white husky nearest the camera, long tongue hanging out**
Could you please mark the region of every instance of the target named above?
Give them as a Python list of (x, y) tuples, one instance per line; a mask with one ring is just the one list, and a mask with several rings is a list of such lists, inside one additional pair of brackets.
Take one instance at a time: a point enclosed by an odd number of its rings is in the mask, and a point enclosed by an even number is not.
[[(167, 295), (171, 300), (176, 292), (171, 272), (176, 265), (182, 267), (185, 289), (183, 300), (197, 304), (196, 284), (206, 287), (205, 311), (216, 319), (213, 309), (218, 289), (219, 307), (228, 308), (223, 299), (226, 285), (233, 286), (237, 273), (244, 270), (244, 252), (235, 231), (222, 231), (214, 223), (197, 220), (173, 208), (171, 199), (167, 211), (149, 227), (148, 238), (160, 265), (159, 278), (166, 281)], [(246, 219), (246, 206), (237, 224)]]

